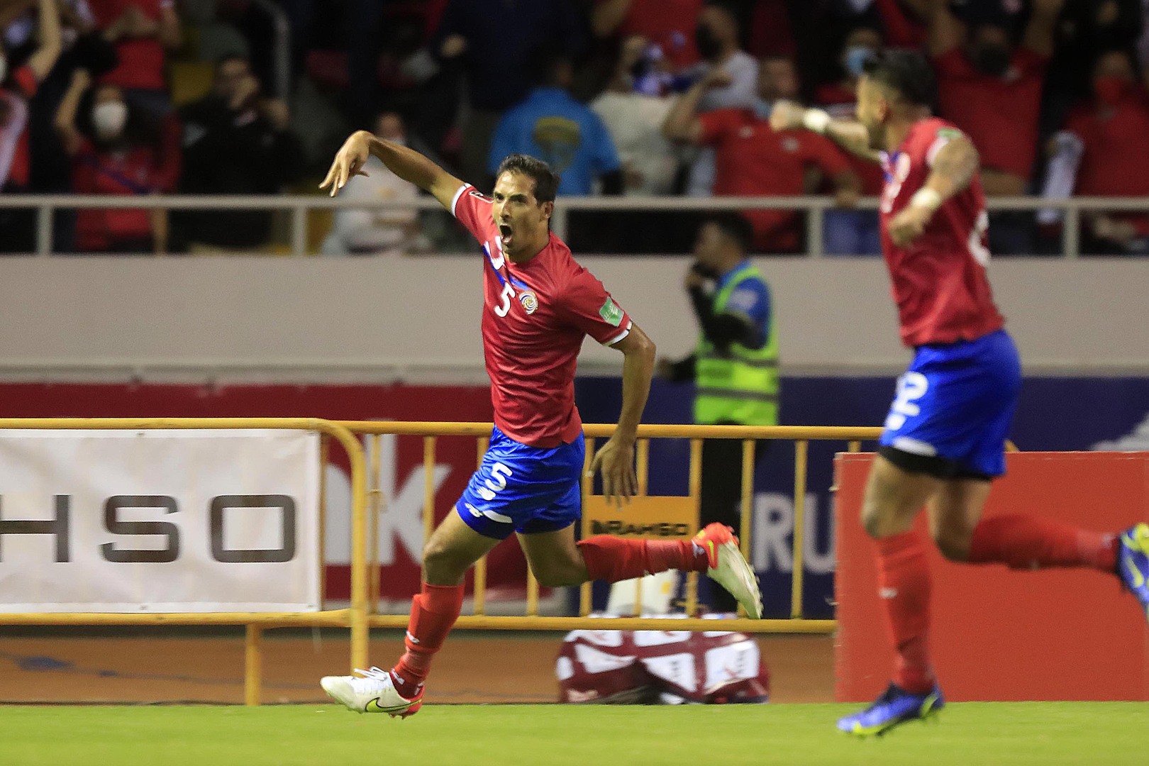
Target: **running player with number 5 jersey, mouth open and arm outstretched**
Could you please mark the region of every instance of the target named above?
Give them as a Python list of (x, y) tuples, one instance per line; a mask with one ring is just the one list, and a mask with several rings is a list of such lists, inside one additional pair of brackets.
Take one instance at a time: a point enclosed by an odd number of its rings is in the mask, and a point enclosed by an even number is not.
[(574, 541), (585, 456), (574, 364), (583, 339), (591, 335), (624, 357), (618, 427), (591, 464), (592, 472), (601, 470), (603, 494), (617, 502), (638, 486), (634, 440), (655, 347), (550, 231), (558, 177), (545, 162), (514, 154), (500, 165), (487, 196), (417, 152), (361, 131), (347, 139), (321, 187), (338, 193), (363, 172), (369, 155), (433, 194), (481, 245), (483, 347), (495, 426), (483, 464), (423, 549), (423, 587), (411, 604), (407, 652), (391, 671), (326, 676), (324, 690), (357, 712), (418, 711), (431, 659), (462, 608), (466, 570), (511, 533), (543, 586), (615, 582), (669, 568), (705, 571), (749, 616), (759, 617), (757, 580), (728, 527), (709, 525), (691, 542), (608, 535)]

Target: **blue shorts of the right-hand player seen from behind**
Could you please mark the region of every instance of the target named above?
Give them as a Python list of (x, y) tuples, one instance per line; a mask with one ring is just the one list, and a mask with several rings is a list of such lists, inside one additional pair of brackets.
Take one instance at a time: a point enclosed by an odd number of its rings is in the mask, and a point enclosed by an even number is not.
[(1021, 362), (1004, 330), (972, 341), (919, 346), (886, 416), (881, 454), (939, 478), (1005, 473), (1005, 439)]

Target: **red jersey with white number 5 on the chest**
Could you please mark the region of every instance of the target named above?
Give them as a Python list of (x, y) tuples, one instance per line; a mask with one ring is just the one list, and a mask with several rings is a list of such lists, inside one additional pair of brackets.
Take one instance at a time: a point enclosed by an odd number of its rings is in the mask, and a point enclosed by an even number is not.
[(491, 198), (465, 185), (450, 211), (483, 245), (483, 353), (495, 425), (532, 447), (574, 441), (583, 430), (574, 407), (583, 339), (612, 346), (630, 333), (630, 316), (554, 232), (533, 258), (511, 263)]

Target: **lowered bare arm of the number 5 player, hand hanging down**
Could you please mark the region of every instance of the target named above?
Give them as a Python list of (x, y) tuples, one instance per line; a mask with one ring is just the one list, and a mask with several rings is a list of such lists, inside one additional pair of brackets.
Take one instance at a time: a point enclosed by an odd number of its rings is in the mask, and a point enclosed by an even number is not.
[(591, 463), (591, 473), (602, 470), (602, 494), (609, 502), (619, 504), (638, 492), (634, 475), (634, 441), (638, 438), (639, 420), (650, 395), (650, 379), (654, 377), (654, 341), (637, 324), (631, 332), (615, 343), (623, 353), (623, 411), (618, 416), (618, 427), (602, 446)]

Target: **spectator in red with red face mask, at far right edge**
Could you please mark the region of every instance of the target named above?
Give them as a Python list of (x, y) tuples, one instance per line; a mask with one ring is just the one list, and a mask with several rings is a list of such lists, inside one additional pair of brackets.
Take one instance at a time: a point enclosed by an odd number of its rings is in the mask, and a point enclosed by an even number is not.
[[(1093, 67), (1093, 96), (1070, 114), (1054, 145), (1071, 164), (1062, 189), (1085, 196), (1149, 196), (1149, 93), (1139, 82), (1132, 55), (1102, 53)], [(1059, 170), (1050, 162), (1047, 196)], [(1054, 192), (1054, 193), (1051, 193)], [(1149, 216), (1139, 212), (1092, 212), (1086, 216), (1082, 252), (1096, 255), (1149, 254)]]

